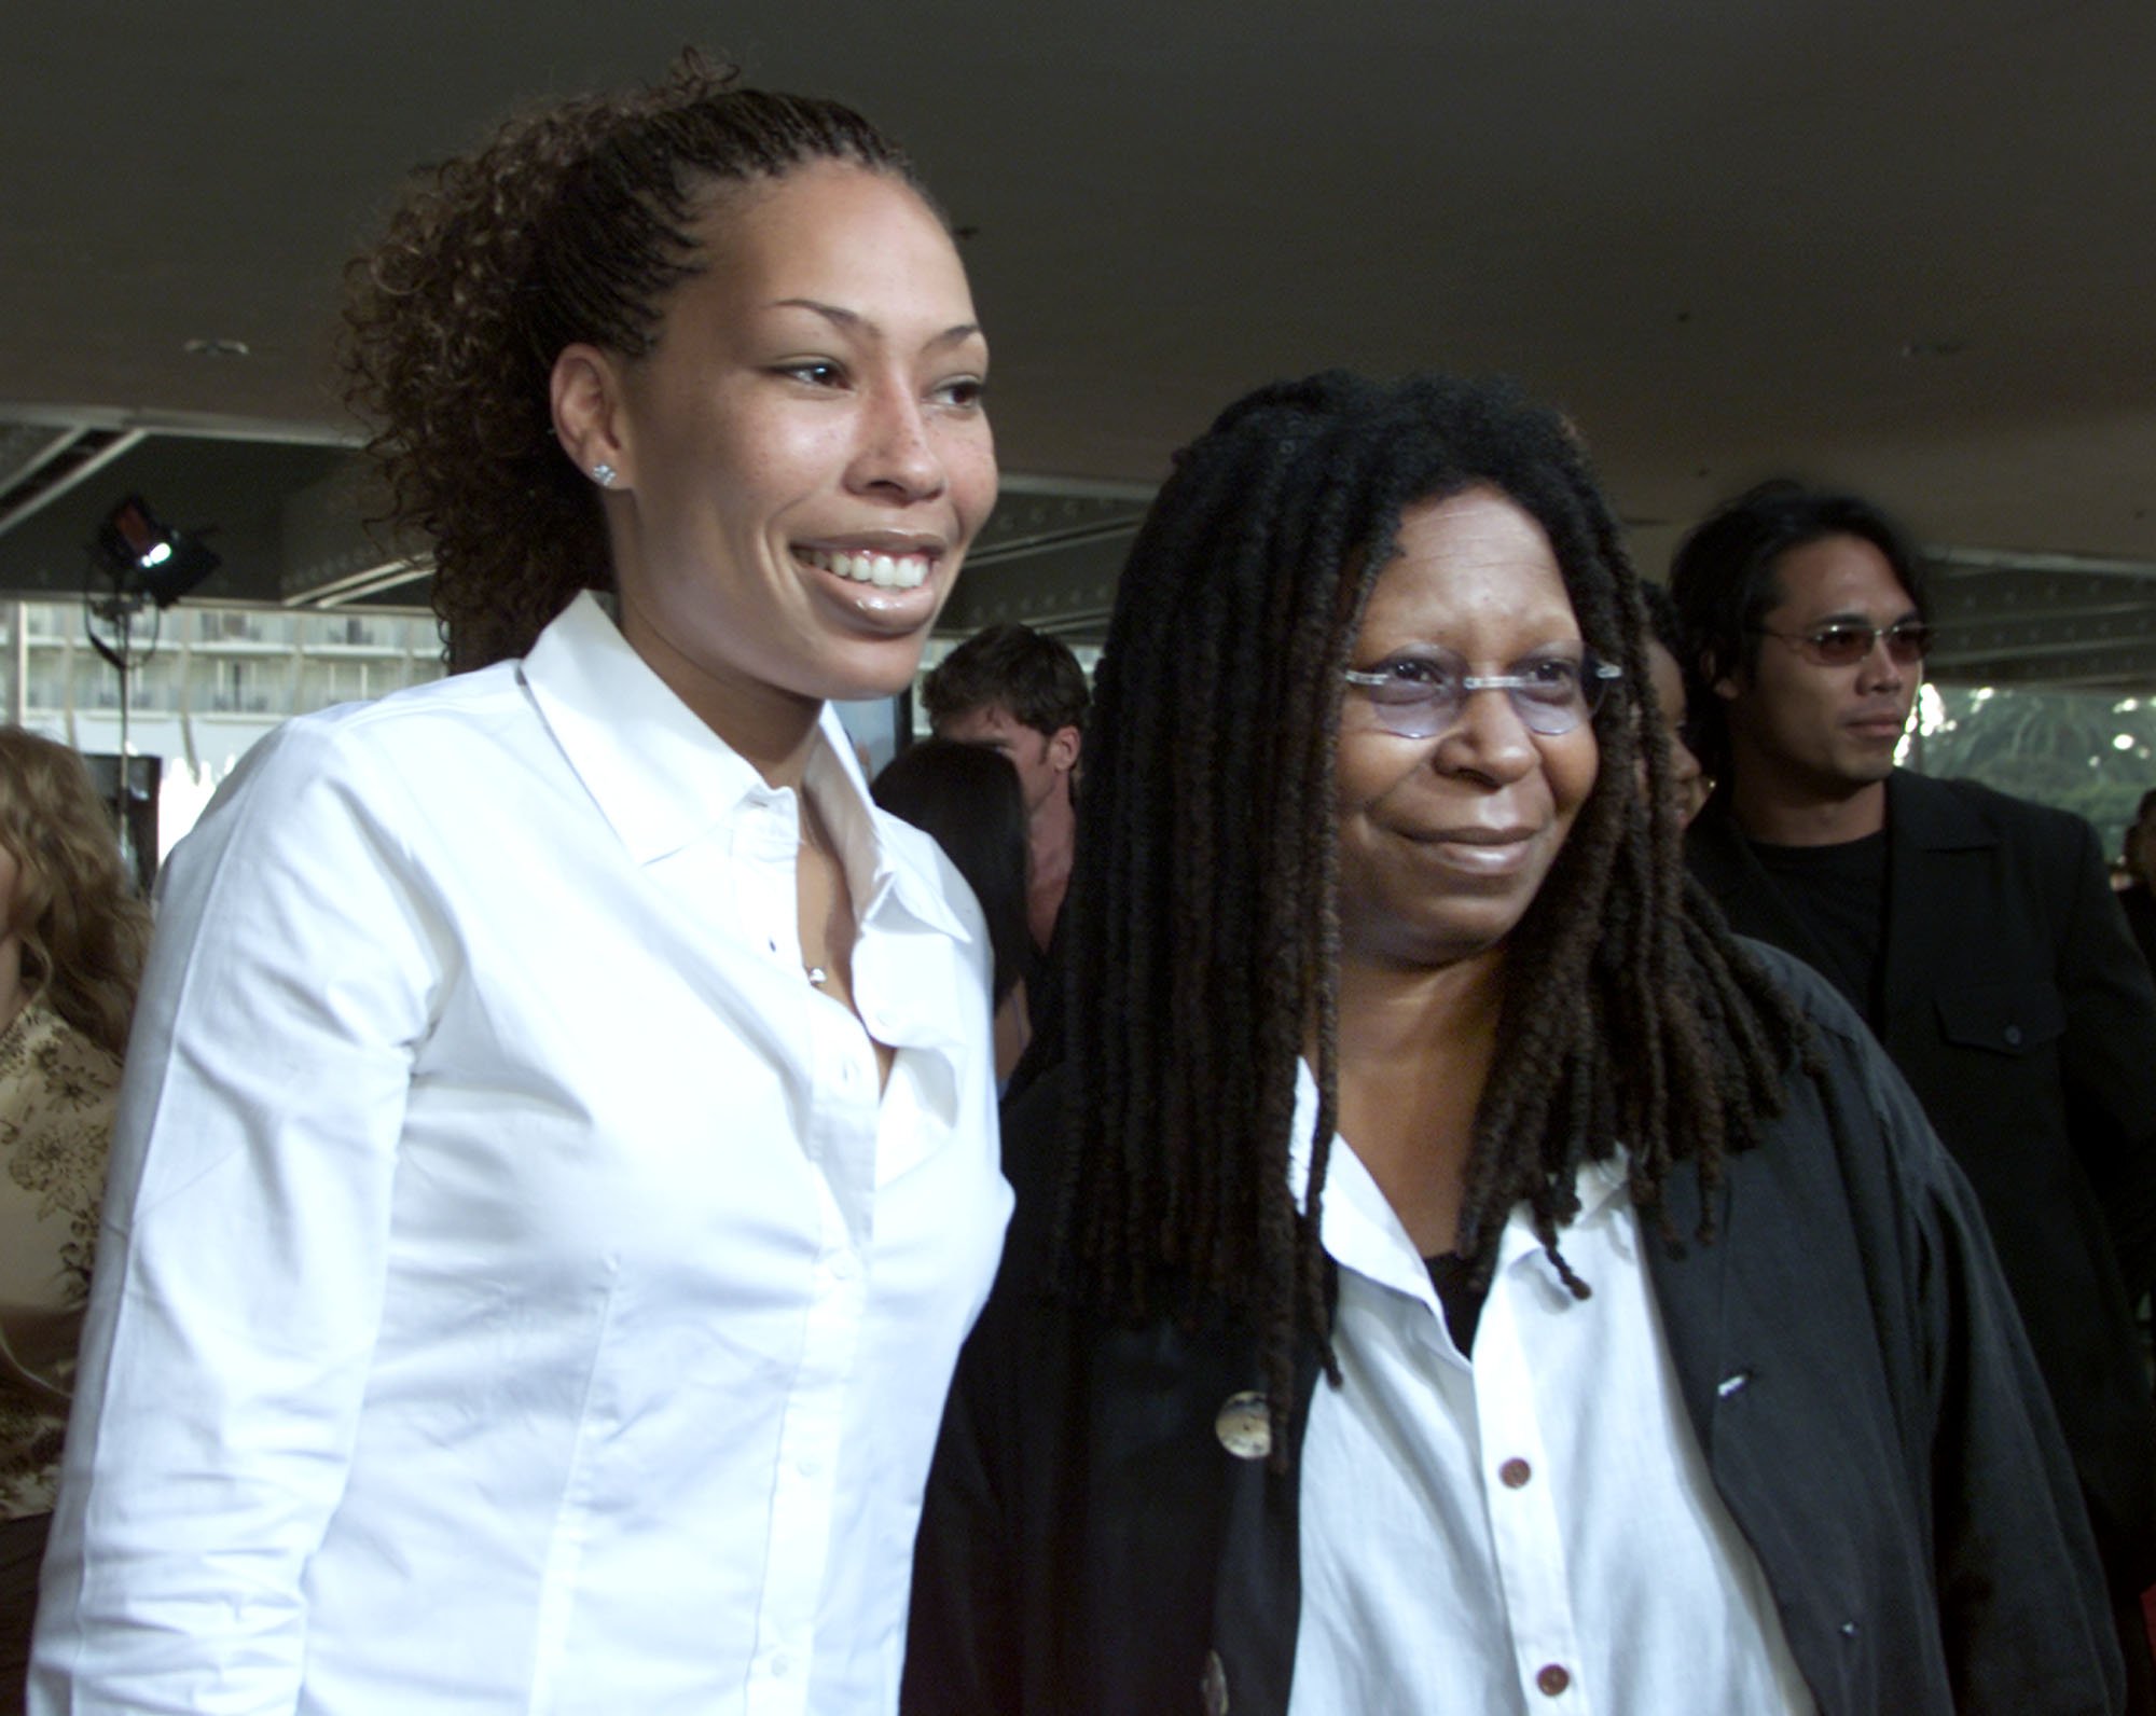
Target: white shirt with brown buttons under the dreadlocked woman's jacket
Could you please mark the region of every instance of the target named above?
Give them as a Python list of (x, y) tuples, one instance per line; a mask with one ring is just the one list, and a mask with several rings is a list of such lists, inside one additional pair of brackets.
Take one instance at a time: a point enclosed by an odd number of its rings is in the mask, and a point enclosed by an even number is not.
[[(1298, 1138), (1313, 1117), (1304, 1069)], [(1559, 1235), (1593, 1298), (1516, 1209), (1468, 1362), (1345, 1145), (1324, 1196), (1343, 1386), (1319, 1380), (1302, 1444), (1294, 1716), (1811, 1712), (1686, 1419), (1621, 1168), (1580, 1171)]]

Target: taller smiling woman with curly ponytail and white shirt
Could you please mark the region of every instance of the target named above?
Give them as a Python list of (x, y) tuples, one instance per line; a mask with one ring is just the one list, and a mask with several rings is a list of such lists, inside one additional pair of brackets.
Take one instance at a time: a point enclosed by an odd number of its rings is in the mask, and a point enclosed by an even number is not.
[(166, 869), (34, 1707), (888, 1714), (1009, 1190), (985, 929), (828, 701), (994, 502), (966, 269), (860, 114), (688, 60), (354, 285), (470, 670)]

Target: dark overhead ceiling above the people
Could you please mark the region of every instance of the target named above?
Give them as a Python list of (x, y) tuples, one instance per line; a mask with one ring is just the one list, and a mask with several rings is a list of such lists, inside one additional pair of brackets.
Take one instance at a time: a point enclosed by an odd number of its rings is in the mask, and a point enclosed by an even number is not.
[(127, 492), (216, 526), (205, 599), (367, 589), (345, 257), (410, 168), (696, 41), (865, 108), (975, 233), (1011, 481), (953, 625), (1097, 629), (1257, 382), (1447, 366), (1572, 416), (1649, 573), (1757, 476), (1850, 483), (1947, 571), (1945, 675), (2156, 690), (2150, 0), (19, 11), (0, 591), (78, 591)]

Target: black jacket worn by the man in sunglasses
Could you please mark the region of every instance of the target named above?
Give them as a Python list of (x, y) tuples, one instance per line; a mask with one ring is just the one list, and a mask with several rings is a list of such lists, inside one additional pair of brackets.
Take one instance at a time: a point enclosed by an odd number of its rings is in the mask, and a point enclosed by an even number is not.
[[(1878, 1035), (1990, 1222), (2117, 1587), (2156, 1582), (2156, 987), (2081, 817), (1887, 780)], [(1692, 873), (1744, 936), (1820, 961), (1718, 800)]]

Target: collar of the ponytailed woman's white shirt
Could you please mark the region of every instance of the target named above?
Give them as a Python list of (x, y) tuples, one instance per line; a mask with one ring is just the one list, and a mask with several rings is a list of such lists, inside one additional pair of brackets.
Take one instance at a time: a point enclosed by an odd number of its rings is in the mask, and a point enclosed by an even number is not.
[[(539, 634), (520, 673), (569, 767), (638, 864), (679, 852), (774, 791), (651, 670), (591, 591)], [(888, 899), (925, 927), (962, 936), (940, 886), (893, 862), (854, 742), (830, 705), (819, 737), (802, 787), (837, 841), (860, 923)]]

